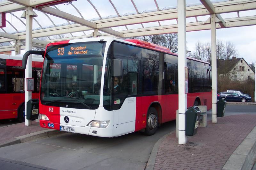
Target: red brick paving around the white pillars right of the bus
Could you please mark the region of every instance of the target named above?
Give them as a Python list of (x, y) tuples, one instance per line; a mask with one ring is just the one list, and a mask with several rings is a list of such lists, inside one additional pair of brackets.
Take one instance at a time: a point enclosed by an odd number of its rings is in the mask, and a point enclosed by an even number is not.
[(208, 121), (197, 134), (187, 138), (187, 144), (178, 145), (176, 133), (160, 143), (154, 170), (167, 169), (222, 169), (228, 158), (256, 126), (256, 115), (231, 115)]

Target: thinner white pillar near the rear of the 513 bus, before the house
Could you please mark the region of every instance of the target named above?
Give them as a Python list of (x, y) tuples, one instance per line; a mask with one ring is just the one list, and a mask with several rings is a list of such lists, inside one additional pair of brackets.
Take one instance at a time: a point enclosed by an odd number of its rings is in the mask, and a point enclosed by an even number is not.
[(212, 46), (212, 123), (217, 123), (217, 56), (215, 14), (211, 14), (210, 20)]

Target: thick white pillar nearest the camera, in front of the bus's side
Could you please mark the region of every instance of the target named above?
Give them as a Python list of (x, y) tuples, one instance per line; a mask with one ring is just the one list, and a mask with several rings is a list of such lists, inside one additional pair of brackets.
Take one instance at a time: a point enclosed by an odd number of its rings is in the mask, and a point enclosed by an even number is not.
[(185, 113), (187, 110), (187, 94), (185, 93), (186, 55), (186, 2), (178, 0), (178, 67), (179, 67), (179, 144), (186, 144)]

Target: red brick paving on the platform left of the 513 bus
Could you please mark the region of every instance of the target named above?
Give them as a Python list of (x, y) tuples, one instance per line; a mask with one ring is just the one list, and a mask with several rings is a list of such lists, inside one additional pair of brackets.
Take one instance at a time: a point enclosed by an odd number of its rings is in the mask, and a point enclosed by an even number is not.
[(23, 123), (12, 124), (0, 128), (0, 144), (8, 142), (22, 135), (45, 130), (39, 126), (39, 122), (32, 121), (31, 126), (25, 126)]

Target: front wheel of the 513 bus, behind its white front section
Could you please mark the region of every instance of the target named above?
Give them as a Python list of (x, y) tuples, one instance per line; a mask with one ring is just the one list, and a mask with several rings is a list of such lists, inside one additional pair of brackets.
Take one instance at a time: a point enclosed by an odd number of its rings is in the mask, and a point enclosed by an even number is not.
[(154, 107), (150, 107), (147, 115), (147, 126), (145, 134), (148, 136), (154, 135), (158, 126), (158, 115)]

